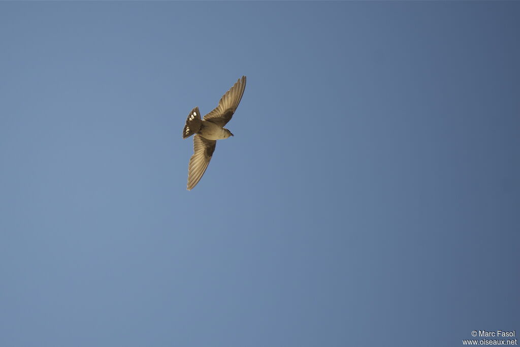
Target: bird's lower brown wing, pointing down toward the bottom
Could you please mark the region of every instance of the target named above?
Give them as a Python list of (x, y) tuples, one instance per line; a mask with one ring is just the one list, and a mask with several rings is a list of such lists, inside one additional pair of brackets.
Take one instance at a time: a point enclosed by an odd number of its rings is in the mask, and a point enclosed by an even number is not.
[(188, 165), (188, 190), (193, 189), (199, 183), (207, 165), (210, 164), (216, 144), (215, 140), (209, 140), (197, 134), (193, 136), (193, 155)]

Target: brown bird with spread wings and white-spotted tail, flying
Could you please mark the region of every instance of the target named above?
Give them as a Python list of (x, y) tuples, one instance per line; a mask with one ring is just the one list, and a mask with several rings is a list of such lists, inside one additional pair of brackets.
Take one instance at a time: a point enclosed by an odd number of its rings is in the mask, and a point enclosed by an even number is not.
[(199, 107), (191, 110), (183, 129), (183, 138), (193, 136), (193, 155), (188, 165), (188, 190), (199, 183), (209, 165), (217, 140), (233, 136), (224, 125), (233, 117), (245, 89), (242, 76), (218, 101), (218, 106), (201, 120)]

